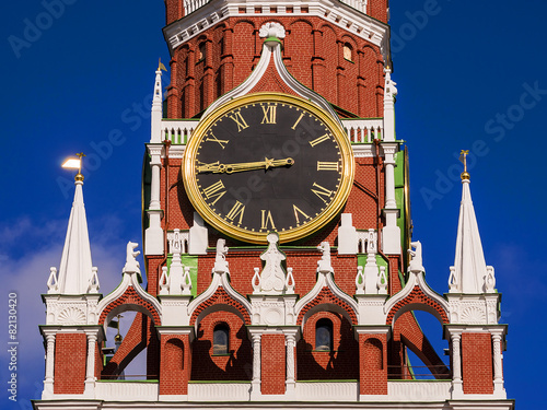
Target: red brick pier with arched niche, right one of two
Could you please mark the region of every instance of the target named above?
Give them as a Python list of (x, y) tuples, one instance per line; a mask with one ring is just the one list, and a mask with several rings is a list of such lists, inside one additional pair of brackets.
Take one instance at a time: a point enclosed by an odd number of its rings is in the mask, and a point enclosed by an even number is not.
[(359, 335), (359, 390), (361, 395), (387, 395), (385, 335)]

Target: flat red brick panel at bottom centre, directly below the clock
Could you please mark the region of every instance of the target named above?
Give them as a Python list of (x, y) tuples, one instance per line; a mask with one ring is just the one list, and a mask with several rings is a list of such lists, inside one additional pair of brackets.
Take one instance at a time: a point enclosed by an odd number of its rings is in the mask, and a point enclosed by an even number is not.
[(286, 380), (284, 335), (263, 335), (261, 348), (263, 395), (283, 395)]

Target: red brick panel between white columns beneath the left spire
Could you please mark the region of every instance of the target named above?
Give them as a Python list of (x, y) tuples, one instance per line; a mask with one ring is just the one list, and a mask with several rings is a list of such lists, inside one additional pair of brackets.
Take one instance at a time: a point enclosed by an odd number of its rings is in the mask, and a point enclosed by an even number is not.
[(57, 333), (54, 371), (56, 395), (81, 395), (83, 393), (86, 358), (85, 333)]

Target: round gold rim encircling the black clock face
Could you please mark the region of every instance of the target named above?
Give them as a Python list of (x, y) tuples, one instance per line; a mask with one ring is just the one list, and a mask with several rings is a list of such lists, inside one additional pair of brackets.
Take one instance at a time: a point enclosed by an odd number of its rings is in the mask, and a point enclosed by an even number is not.
[(349, 192), (353, 185), (356, 169), (353, 150), (351, 148), (351, 143), (348, 140), (348, 137), (346, 136), (345, 130), (328, 114), (324, 113), (313, 103), (301, 97), (282, 93), (254, 93), (233, 98), (210, 113), (207, 118), (203, 118), (199, 122), (186, 144), (181, 169), (186, 194), (196, 211), (216, 230), (237, 241), (260, 245), (268, 243), (266, 239), (268, 232), (252, 232), (248, 230), (240, 229), (237, 226), (233, 226), (210, 209), (210, 207), (200, 195), (199, 188), (197, 186), (195, 157), (200, 141), (205, 137), (205, 133), (207, 132), (209, 127), (214, 124), (217, 119), (221, 118), (223, 115), (237, 107), (242, 107), (253, 103), (266, 102), (291, 104), (305, 109), (312, 115), (319, 118), (319, 120), (325, 124), (330, 132), (333, 132), (333, 136), (335, 137), (336, 141), (338, 142), (338, 147), (340, 148), (340, 154), (342, 157), (342, 172), (340, 174), (339, 189), (336, 192), (335, 198), (327, 206), (327, 209), (323, 211), (318, 216), (313, 219), (310, 223), (303, 224), (302, 226), (298, 226), (292, 230), (277, 231), (277, 233), (279, 234), (280, 243), (289, 243), (302, 239), (311, 235), (312, 233), (317, 232), (328, 222), (330, 222), (333, 218), (335, 218), (340, 212), (348, 199)]

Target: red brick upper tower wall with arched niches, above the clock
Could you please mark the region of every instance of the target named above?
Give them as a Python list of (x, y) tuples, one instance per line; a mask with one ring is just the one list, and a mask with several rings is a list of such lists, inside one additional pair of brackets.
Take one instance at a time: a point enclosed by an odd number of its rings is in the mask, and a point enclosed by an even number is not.
[[(286, 27), (283, 60), (298, 81), (358, 117), (383, 115), (379, 47), (319, 17), (279, 15), (276, 20)], [(194, 117), (241, 84), (261, 52), (258, 28), (269, 21), (259, 14), (229, 17), (179, 46), (171, 61), (167, 117)], [(206, 58), (200, 59), (203, 44)], [(345, 45), (352, 49), (351, 61), (344, 58)]]

